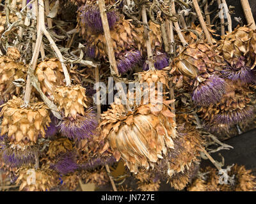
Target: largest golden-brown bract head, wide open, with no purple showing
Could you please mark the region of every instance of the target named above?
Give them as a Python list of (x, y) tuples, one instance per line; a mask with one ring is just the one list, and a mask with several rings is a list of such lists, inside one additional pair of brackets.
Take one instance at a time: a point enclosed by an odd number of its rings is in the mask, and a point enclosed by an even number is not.
[(108, 138), (116, 160), (122, 157), (134, 173), (163, 158), (177, 137), (175, 115), (166, 105), (141, 105), (125, 113), (123, 105), (113, 104), (101, 117), (102, 137)]

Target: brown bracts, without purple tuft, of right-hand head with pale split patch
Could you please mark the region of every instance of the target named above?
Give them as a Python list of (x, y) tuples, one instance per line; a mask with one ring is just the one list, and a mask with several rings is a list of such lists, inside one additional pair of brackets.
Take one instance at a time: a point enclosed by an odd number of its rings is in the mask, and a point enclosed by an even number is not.
[[(170, 73), (174, 75), (173, 83), (179, 85), (184, 82), (196, 87), (210, 77), (211, 73), (220, 71), (223, 65), (221, 62), (218, 52), (206, 43), (192, 43), (180, 50), (179, 56), (172, 61)], [(194, 81), (195, 79), (197, 80)]]

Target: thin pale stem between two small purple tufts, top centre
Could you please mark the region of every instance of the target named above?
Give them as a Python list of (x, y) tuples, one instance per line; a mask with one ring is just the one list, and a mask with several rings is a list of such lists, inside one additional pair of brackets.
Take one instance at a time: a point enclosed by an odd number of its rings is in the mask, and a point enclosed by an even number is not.
[(150, 36), (148, 33), (148, 20), (147, 20), (147, 11), (146, 11), (145, 5), (142, 6), (141, 15), (142, 15), (142, 21), (145, 24), (144, 25), (144, 34), (145, 34), (145, 37), (147, 38), (146, 47), (147, 47), (147, 56), (148, 56), (148, 67), (150, 70), (154, 70), (155, 67), (154, 67), (154, 63), (153, 63), (152, 47), (150, 45)]

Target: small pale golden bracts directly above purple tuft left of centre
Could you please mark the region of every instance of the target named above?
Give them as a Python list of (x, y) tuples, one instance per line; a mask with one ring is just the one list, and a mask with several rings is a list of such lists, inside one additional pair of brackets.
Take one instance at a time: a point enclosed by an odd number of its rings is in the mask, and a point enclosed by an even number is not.
[(54, 101), (58, 109), (65, 113), (65, 117), (76, 119), (77, 114), (84, 115), (86, 105), (85, 91), (81, 85), (72, 87), (56, 87), (54, 90)]

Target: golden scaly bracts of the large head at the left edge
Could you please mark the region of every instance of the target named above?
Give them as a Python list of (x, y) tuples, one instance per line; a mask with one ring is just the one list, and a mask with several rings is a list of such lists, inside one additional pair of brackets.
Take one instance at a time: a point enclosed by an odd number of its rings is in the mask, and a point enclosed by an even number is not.
[(22, 108), (23, 105), (24, 101), (15, 96), (2, 105), (1, 135), (8, 135), (11, 143), (33, 145), (38, 136), (45, 136), (45, 128), (51, 119), (48, 107), (43, 102), (30, 103), (28, 108)]

